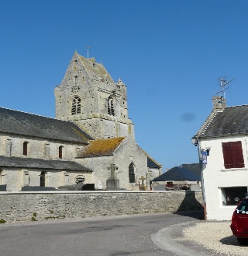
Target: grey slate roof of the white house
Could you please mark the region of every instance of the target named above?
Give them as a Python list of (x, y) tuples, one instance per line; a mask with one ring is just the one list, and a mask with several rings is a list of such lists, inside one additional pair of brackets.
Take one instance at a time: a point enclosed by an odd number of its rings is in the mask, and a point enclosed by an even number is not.
[(213, 110), (194, 137), (211, 138), (248, 134), (248, 105)]

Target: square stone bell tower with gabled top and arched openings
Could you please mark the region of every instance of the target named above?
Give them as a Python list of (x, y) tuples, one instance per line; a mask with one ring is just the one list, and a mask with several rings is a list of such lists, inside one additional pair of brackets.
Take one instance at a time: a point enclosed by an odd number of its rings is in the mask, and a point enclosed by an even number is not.
[(134, 124), (128, 117), (126, 85), (114, 82), (95, 58), (74, 53), (59, 86), (54, 89), (56, 118), (73, 121), (95, 139), (134, 139)]

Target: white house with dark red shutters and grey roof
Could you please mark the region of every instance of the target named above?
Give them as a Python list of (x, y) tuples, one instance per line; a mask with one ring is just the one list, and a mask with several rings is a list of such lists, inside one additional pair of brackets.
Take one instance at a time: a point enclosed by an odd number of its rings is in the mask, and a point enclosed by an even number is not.
[(229, 220), (248, 187), (248, 105), (226, 107), (212, 98), (213, 110), (192, 138), (202, 162), (206, 219)]

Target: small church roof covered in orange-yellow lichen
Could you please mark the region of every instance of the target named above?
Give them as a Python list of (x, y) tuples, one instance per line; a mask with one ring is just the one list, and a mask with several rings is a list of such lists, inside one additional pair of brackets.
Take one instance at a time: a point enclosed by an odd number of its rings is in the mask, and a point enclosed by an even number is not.
[(122, 143), (123, 139), (125, 139), (125, 137), (90, 141), (88, 146), (82, 149), (77, 157), (110, 156)]

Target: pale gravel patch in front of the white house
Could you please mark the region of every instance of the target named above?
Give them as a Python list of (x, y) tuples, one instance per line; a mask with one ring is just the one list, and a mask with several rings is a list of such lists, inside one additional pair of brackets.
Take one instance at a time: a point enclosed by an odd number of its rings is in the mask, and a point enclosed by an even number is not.
[(226, 255), (247, 255), (248, 247), (232, 236), (230, 222), (202, 222), (183, 230), (184, 237), (204, 247)]

